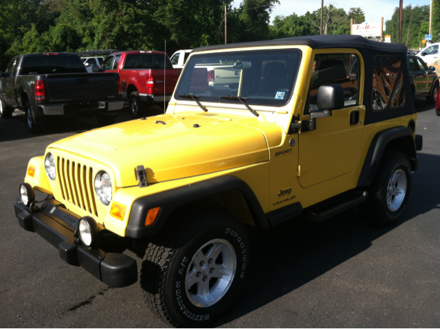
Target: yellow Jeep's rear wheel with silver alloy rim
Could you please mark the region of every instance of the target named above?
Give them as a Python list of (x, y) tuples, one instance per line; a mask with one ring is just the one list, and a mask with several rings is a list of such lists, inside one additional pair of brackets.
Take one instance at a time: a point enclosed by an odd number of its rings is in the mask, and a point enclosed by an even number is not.
[(408, 157), (391, 151), (377, 169), (369, 197), (360, 205), (362, 216), (377, 226), (394, 224), (403, 214), (411, 190), (411, 166)]

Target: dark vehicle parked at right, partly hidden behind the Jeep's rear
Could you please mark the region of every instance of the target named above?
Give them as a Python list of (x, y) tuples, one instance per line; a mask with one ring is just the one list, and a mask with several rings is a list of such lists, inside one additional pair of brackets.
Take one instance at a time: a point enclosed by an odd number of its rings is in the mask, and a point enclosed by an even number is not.
[[(434, 104), (439, 91), (439, 77), (435, 73), (435, 67), (428, 67), (417, 56), (408, 55), (408, 73), (412, 90), (412, 98), (426, 98), (430, 104)], [(386, 77), (384, 80), (386, 84)]]

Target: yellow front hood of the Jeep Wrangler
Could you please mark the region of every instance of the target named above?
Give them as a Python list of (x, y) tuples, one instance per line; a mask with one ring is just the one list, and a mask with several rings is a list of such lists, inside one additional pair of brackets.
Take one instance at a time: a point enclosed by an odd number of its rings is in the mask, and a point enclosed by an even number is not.
[(137, 185), (144, 166), (148, 183), (217, 172), (268, 160), (261, 131), (230, 118), (158, 115), (115, 124), (52, 144), (111, 168), (116, 185)]

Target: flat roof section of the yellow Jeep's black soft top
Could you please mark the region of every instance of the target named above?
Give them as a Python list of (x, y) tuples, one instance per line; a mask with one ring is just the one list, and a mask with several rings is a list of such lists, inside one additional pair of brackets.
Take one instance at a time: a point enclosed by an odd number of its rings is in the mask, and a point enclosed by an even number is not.
[(199, 47), (192, 52), (203, 52), (214, 49), (232, 49), (239, 47), (259, 47), (270, 45), (308, 45), (314, 49), (322, 48), (354, 48), (371, 49), (380, 52), (399, 52), (406, 54), (408, 49), (401, 43), (380, 43), (371, 41), (362, 36), (352, 35), (327, 35), (327, 36), (295, 36), (293, 38), (281, 38), (267, 41), (252, 41), (248, 43), (229, 43), (227, 45), (211, 45)]

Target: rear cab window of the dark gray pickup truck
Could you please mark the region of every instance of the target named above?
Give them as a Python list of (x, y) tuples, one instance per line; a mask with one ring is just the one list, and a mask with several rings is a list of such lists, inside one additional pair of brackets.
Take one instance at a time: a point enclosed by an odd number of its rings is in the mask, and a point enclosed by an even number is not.
[(35, 55), (25, 56), (21, 76), (50, 73), (87, 73), (79, 56)]

